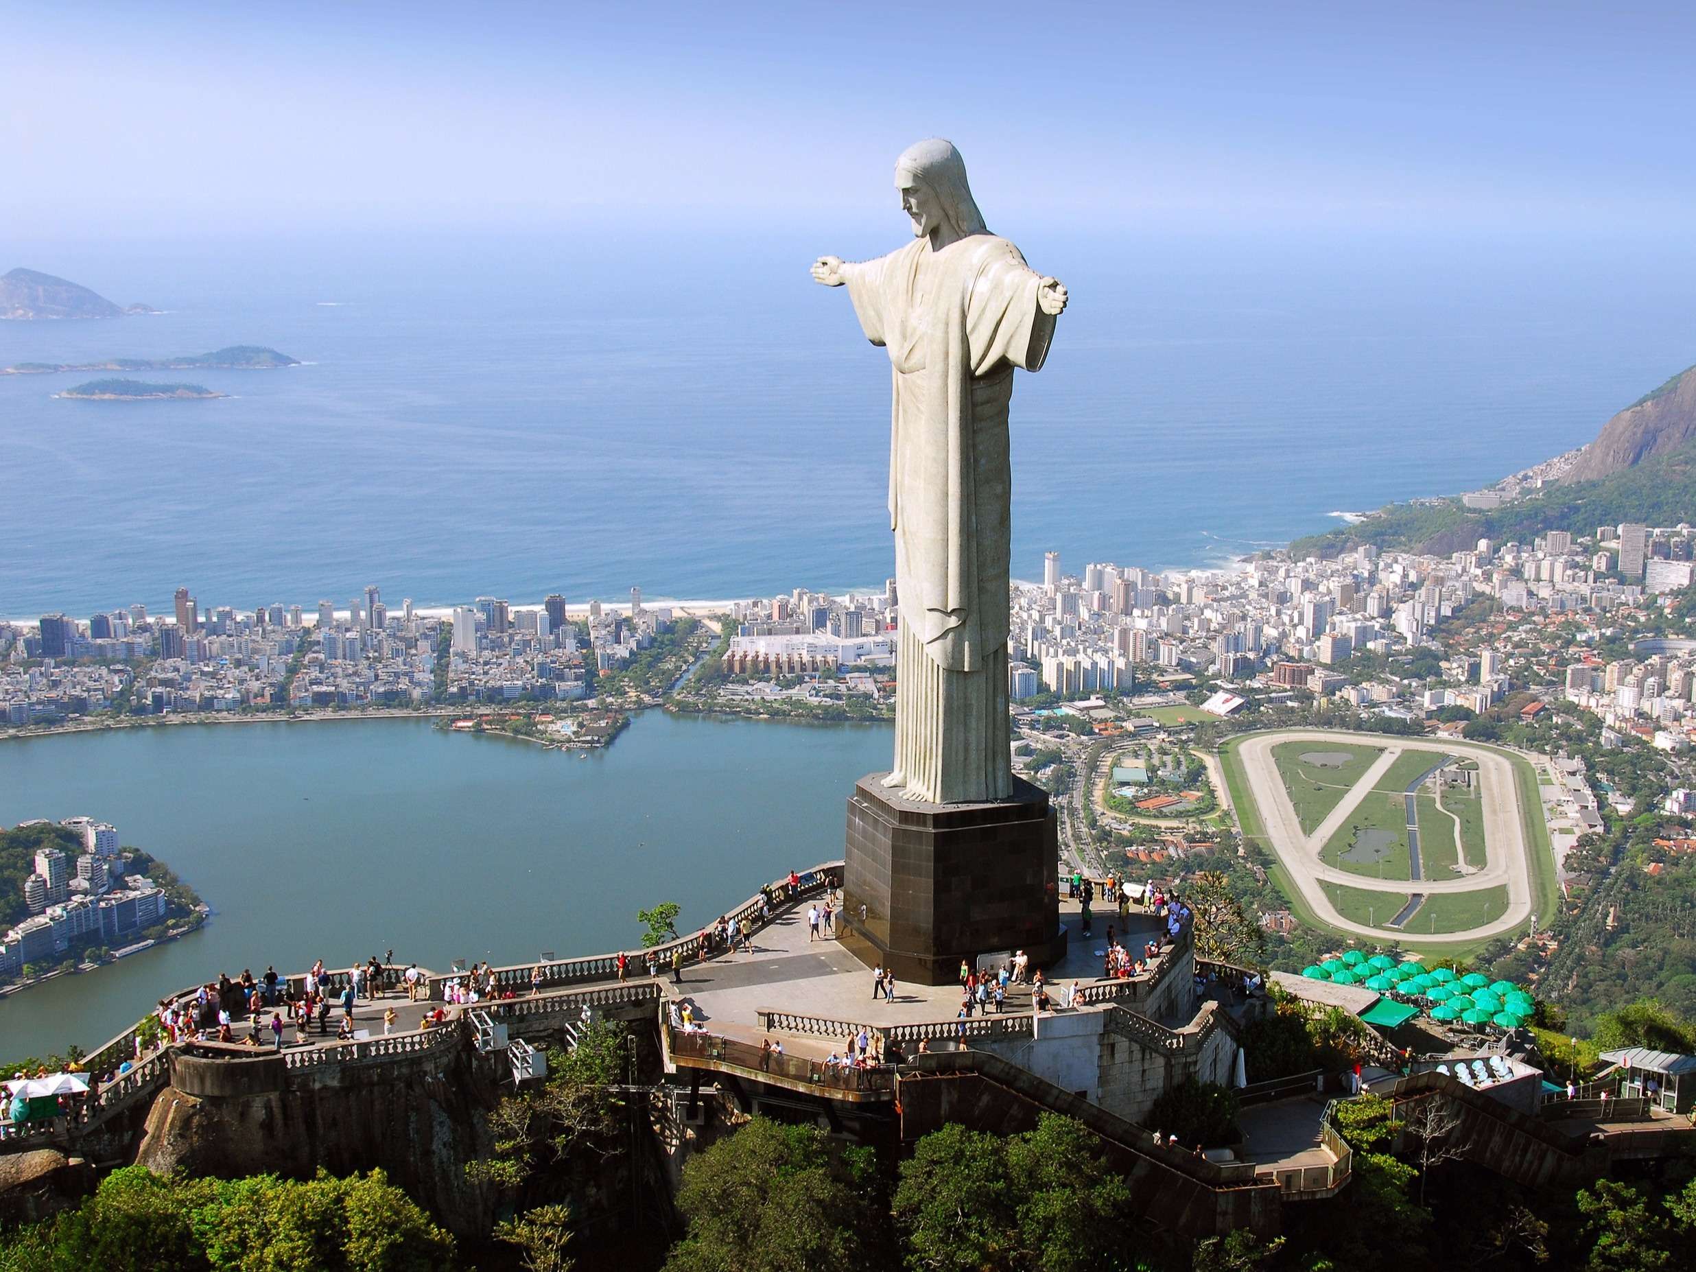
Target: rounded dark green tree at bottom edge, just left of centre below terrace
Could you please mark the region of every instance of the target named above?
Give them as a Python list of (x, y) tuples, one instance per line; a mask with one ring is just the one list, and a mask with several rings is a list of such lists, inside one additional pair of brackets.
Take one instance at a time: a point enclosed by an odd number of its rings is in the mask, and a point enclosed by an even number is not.
[(665, 1272), (889, 1267), (889, 1221), (870, 1148), (816, 1126), (755, 1118), (683, 1167), (689, 1221)]

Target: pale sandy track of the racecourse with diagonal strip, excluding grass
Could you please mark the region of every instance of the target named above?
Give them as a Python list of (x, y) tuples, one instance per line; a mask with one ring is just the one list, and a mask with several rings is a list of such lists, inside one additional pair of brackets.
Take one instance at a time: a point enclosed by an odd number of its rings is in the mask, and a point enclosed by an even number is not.
[[(1279, 773), (1277, 763), (1272, 758), (1272, 748), (1289, 741), (1314, 743), (1319, 746), (1326, 743), (1335, 745), (1348, 741), (1384, 748), (1384, 753), (1372, 762), (1360, 780), (1353, 784), (1348, 794), (1343, 795), (1343, 799), (1335, 809), (1331, 809), (1325, 821), (1319, 823), (1313, 834), (1303, 834), (1301, 819), (1296, 816), (1296, 809), (1289, 801), (1289, 792), (1284, 789), (1284, 777)], [(1333, 834), (1336, 834), (1338, 829), (1342, 829), (1343, 824), (1347, 824), (1353, 811), (1404, 751), (1430, 751), (1433, 756), (1459, 755), (1476, 760), (1484, 785), (1484, 867), (1464, 879), (1420, 880), (1421, 892), (1425, 895), (1431, 895), (1438, 892), (1477, 892), (1482, 889), (1499, 887), (1503, 884), (1508, 887), (1508, 909), (1503, 911), (1499, 919), (1492, 919), (1491, 923), (1477, 928), (1467, 928), (1465, 931), (1421, 936), (1420, 943), (1433, 945), (1443, 941), (1479, 941), (1521, 928), (1531, 916), (1531, 845), (1526, 843), (1525, 826), (1520, 821), (1520, 804), (1516, 794), (1518, 785), (1515, 782), (1513, 762), (1501, 751), (1487, 746), (1450, 741), (1447, 738), (1426, 739), (1396, 738), (1377, 733), (1286, 729), (1253, 734), (1236, 748), (1236, 758), (1243, 767), (1245, 778), (1248, 780), (1248, 792), (1260, 811), (1260, 823), (1270, 840), (1272, 851), (1277, 853), (1279, 862), (1289, 872), (1291, 880), (1301, 892), (1303, 902), (1328, 928), (1374, 940), (1384, 940), (1386, 934), (1392, 933), (1392, 929), (1370, 928), (1364, 923), (1345, 919), (1326, 895), (1325, 884), (1342, 884), (1364, 892), (1389, 892), (1401, 897), (1408, 895), (1411, 880), (1381, 880), (1369, 875), (1350, 873), (1348, 870), (1338, 870), (1336, 867), (1326, 865), (1319, 860), (1319, 850)], [(1540, 816), (1542, 809), (1537, 809), (1537, 814)], [(1409, 824), (1414, 823), (1411, 811), (1408, 814), (1408, 821)]]

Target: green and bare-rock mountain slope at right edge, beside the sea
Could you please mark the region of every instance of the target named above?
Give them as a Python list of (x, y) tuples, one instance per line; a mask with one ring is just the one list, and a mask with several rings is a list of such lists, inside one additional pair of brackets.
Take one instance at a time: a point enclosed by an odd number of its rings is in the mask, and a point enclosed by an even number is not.
[(1696, 522), (1696, 366), (1610, 419), (1596, 441), (1503, 478), (1487, 490), (1389, 504), (1325, 534), (1296, 539), (1297, 560), (1362, 544), (1428, 556), (1479, 539), (1530, 543), (1550, 529)]

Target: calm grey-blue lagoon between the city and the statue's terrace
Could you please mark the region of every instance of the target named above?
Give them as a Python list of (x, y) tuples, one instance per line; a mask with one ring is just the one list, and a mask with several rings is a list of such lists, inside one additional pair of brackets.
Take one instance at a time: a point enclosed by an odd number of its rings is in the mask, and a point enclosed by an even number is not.
[(427, 719), (117, 729), (0, 741), (0, 823), (80, 812), (214, 911), (180, 941), (0, 999), (0, 1062), (93, 1048), (161, 994), (244, 967), (393, 950), (517, 963), (636, 948), (636, 911), (712, 923), (841, 855), (887, 724), (639, 714), (607, 750), (546, 751)]

